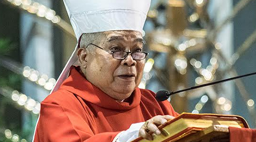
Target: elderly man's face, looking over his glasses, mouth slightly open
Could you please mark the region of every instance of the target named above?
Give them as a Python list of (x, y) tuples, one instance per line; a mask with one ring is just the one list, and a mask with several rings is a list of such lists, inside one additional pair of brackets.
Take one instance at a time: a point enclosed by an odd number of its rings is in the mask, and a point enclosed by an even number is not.
[[(105, 34), (106, 39), (98, 46), (108, 51), (142, 51), (143, 40), (140, 32), (109, 31)], [(91, 48), (95, 49), (93, 54), (87, 53), (86, 56), (87, 80), (116, 100), (128, 98), (140, 83), (145, 59), (133, 60), (128, 54), (125, 59), (117, 60), (100, 48)]]

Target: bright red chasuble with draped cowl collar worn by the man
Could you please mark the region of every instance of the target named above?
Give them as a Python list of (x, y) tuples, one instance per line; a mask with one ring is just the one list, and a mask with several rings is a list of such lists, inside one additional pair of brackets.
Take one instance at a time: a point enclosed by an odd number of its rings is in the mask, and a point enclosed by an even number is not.
[(128, 100), (116, 101), (71, 67), (60, 89), (41, 102), (34, 142), (112, 142), (131, 124), (178, 115), (150, 90), (136, 88)]

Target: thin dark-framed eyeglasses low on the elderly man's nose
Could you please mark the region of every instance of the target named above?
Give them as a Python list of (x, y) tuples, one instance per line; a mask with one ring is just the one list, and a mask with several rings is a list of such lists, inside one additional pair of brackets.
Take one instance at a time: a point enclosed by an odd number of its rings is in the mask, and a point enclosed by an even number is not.
[[(90, 44), (89, 44), (90, 45)], [(89, 46), (87, 45), (86, 48)], [(114, 52), (111, 52), (111, 51), (108, 51), (106, 49), (103, 49), (101, 48), (100, 46), (97, 46), (95, 44), (91, 44), (91, 45), (94, 45), (110, 54), (112, 54), (113, 58), (115, 59), (118, 59), (118, 60), (123, 60), (125, 59), (128, 54), (131, 54), (133, 60), (143, 60), (146, 58), (146, 55), (148, 55), (149, 53), (146, 53), (146, 52), (126, 52), (126, 51), (114, 51)]]

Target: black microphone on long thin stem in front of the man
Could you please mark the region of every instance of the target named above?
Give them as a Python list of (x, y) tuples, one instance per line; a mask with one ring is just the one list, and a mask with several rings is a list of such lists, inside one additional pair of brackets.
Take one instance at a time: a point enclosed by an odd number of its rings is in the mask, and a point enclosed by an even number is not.
[(217, 83), (221, 83), (221, 82), (225, 82), (225, 81), (229, 81), (229, 80), (235, 80), (235, 79), (239, 79), (239, 78), (243, 78), (243, 77), (246, 77), (246, 76), (250, 76), (250, 75), (255, 75), (256, 72), (253, 72), (253, 73), (249, 73), (249, 74), (245, 74), (245, 75), (241, 75), (241, 76), (236, 76), (236, 77), (232, 77), (232, 78), (229, 78), (229, 79), (225, 79), (225, 80), (218, 80), (218, 81), (214, 81), (214, 82), (210, 82), (210, 83), (206, 83), (206, 84), (202, 84), (202, 85), (198, 85), (198, 86), (193, 86), (191, 88), (187, 88), (187, 89), (182, 89), (182, 90), (178, 90), (178, 91), (174, 91), (174, 92), (167, 92), (165, 90), (161, 90), (161, 91), (158, 91), (156, 93), (156, 100), (157, 101), (164, 101), (166, 99), (168, 99), (171, 95), (174, 95), (174, 94), (177, 94), (177, 93), (180, 93), (180, 92), (184, 92), (184, 91), (188, 91), (188, 90), (192, 90), (192, 89), (197, 89), (197, 88), (201, 88), (201, 87), (205, 87), (205, 86), (210, 86), (210, 85), (213, 85), (213, 84), (217, 84)]

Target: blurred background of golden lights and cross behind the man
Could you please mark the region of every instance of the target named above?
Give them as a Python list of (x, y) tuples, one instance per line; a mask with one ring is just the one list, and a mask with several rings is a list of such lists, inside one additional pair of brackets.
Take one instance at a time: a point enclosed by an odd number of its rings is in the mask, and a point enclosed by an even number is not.
[[(175, 91), (256, 71), (256, 0), (152, 0), (140, 88)], [(0, 142), (31, 142), (40, 102), (76, 44), (62, 0), (0, 0)], [(243, 116), (256, 76), (177, 94), (179, 112)]]

